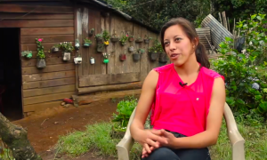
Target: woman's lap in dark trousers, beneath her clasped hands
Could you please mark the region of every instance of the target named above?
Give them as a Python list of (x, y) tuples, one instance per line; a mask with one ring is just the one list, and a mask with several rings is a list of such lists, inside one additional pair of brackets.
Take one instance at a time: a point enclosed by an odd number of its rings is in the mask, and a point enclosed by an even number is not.
[(158, 148), (150, 153), (149, 157), (142, 160), (210, 160), (207, 148), (171, 149)]

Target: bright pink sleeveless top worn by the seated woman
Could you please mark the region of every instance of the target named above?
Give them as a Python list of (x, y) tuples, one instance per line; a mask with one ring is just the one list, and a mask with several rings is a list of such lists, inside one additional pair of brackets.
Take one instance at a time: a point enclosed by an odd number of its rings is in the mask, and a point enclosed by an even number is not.
[(192, 136), (206, 130), (214, 79), (224, 77), (208, 68), (200, 68), (197, 80), (190, 85), (178, 76), (174, 64), (154, 68), (158, 72), (156, 98), (151, 107), (151, 125)]

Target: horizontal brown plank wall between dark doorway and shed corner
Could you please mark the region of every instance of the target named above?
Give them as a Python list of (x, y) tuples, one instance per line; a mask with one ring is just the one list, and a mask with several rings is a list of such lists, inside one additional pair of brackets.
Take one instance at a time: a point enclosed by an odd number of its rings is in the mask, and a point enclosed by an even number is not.
[[(48, 52), (53, 44), (74, 43), (73, 7), (1, 4), (0, 19), (0, 28), (20, 28), (20, 50), (33, 52), (33, 59), (21, 58), (24, 112), (44, 108), (45, 102), (60, 104), (75, 94), (74, 53), (64, 62), (61, 52)], [(36, 38), (44, 38), (44, 69), (36, 68)]]

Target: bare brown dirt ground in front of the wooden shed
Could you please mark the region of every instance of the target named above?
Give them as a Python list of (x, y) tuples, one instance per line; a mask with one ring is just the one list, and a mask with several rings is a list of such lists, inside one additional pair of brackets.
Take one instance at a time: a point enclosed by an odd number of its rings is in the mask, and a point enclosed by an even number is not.
[[(33, 148), (44, 160), (51, 160), (54, 159), (55, 155), (53, 147), (60, 135), (85, 130), (85, 125), (87, 124), (109, 121), (112, 113), (116, 112), (117, 102), (118, 100), (116, 102), (106, 100), (78, 108), (74, 106), (69, 108), (56, 107), (12, 123), (27, 128), (28, 140)], [(60, 157), (64, 160), (71, 159), (66, 156), (59, 156), (58, 158)], [(100, 160), (101, 158), (89, 152), (75, 159)]]

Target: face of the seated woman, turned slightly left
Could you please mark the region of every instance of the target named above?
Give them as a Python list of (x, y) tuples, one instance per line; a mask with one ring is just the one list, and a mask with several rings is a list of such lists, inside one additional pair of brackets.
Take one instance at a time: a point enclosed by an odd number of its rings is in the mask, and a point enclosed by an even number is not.
[(194, 44), (178, 25), (166, 29), (164, 45), (166, 54), (175, 66), (182, 66), (195, 52)]

